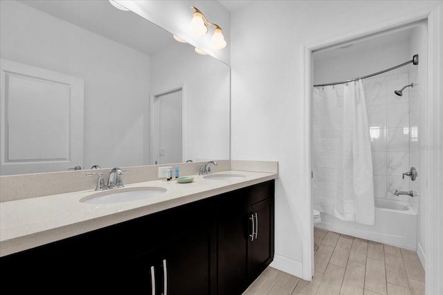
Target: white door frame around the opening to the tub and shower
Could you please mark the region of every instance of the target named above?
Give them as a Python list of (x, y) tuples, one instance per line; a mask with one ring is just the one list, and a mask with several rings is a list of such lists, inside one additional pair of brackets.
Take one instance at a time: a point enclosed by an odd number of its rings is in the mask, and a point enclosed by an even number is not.
[[(440, 245), (443, 244), (443, 233), (439, 228), (439, 224), (443, 224), (443, 217), (440, 213), (443, 208), (443, 198), (441, 192), (443, 184), (443, 87), (440, 84), (443, 80), (442, 69), (442, 19), (443, 5), (441, 3), (434, 4), (417, 10), (407, 15), (402, 15), (389, 21), (374, 24), (361, 30), (345, 35), (339, 35), (331, 39), (327, 39), (314, 44), (305, 45), (302, 51), (302, 60), (304, 62), (304, 83), (303, 89), (305, 93), (305, 157), (303, 167), (305, 169), (305, 198), (303, 206), (304, 216), (302, 217), (302, 236), (307, 237), (302, 241), (302, 276), (305, 280), (311, 280), (314, 275), (314, 224), (312, 220), (312, 204), (311, 204), (311, 97), (312, 97), (312, 81), (313, 81), (313, 52), (330, 46), (335, 46), (343, 42), (351, 42), (355, 39), (369, 37), (370, 35), (383, 33), (386, 30), (395, 30), (403, 26), (408, 26), (418, 21), (427, 22), (428, 33), (428, 83), (426, 85), (427, 95), (423, 99), (420, 108), (421, 113), (426, 114), (425, 118), (421, 118), (422, 138), (424, 145), (428, 149), (420, 151), (420, 170), (421, 175), (426, 181), (426, 186), (420, 186), (422, 197), (427, 198), (426, 208), (420, 211), (426, 213), (424, 222), (428, 231), (426, 237), (426, 263), (424, 269), (426, 274), (426, 294), (437, 294), (443, 289), (443, 283), (440, 280), (442, 258), (440, 253)], [(434, 99), (429, 99), (434, 98)], [(309, 238), (308, 238), (309, 237)], [(424, 259), (424, 257), (422, 257)]]

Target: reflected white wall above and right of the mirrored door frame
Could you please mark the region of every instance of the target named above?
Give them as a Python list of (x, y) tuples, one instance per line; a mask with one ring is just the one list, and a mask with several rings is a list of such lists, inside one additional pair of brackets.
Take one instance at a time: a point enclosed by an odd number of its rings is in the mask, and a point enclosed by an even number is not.
[(152, 55), (154, 95), (183, 85), (184, 160), (229, 159), (229, 66), (176, 42)]

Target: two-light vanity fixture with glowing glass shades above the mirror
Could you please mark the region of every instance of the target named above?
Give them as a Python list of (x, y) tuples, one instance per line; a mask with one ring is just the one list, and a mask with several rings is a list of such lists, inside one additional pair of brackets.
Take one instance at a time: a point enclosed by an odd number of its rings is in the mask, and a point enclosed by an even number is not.
[(190, 31), (192, 35), (195, 35), (196, 37), (205, 35), (206, 33), (208, 33), (209, 26), (215, 26), (210, 46), (213, 49), (225, 48), (226, 41), (224, 39), (220, 26), (217, 24), (210, 23), (208, 19), (206, 19), (206, 17), (204, 16), (204, 14), (198, 8), (195, 8), (195, 6), (191, 6), (191, 8), (195, 10), (195, 12), (192, 14), (192, 19), (190, 24)]

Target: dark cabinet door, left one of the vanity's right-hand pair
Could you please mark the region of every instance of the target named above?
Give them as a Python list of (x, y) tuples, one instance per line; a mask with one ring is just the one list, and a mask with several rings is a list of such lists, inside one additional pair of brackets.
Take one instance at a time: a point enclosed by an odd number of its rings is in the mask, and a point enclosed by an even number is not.
[(248, 279), (248, 208), (222, 211), (218, 229), (218, 294), (241, 294)]

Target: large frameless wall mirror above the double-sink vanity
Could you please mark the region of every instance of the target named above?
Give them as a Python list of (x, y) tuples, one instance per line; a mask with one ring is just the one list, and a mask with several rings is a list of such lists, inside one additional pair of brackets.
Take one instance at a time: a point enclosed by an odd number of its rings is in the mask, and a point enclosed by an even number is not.
[(230, 158), (228, 65), (109, 1), (0, 5), (0, 175)]

